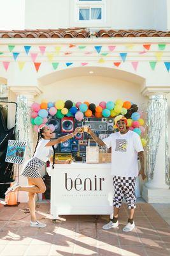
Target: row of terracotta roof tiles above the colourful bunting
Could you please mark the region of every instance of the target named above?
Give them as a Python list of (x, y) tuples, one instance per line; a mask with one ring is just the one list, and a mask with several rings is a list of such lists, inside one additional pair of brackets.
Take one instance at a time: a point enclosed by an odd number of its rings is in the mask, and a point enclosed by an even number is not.
[[(153, 29), (99, 29), (96, 37), (170, 37), (170, 31), (157, 31)], [(25, 29), (25, 30), (0, 30), (0, 38), (88, 38), (90, 29), (68, 28), (68, 29)]]

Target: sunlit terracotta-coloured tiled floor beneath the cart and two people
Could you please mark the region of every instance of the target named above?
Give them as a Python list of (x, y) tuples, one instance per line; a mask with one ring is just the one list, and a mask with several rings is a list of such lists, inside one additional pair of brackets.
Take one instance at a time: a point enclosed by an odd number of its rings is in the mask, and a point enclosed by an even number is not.
[(127, 221), (127, 208), (122, 205), (120, 226), (103, 230), (108, 216), (62, 216), (50, 220), (50, 204), (38, 204), (38, 219), (45, 228), (29, 227), (27, 204), (18, 207), (0, 205), (1, 256), (52, 255), (170, 255), (170, 227), (150, 204), (138, 204), (136, 228), (122, 232)]

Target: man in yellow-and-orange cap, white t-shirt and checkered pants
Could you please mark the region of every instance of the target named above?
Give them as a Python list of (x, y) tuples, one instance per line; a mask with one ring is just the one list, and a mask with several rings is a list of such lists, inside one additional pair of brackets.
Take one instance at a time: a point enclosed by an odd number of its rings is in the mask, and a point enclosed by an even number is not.
[[(113, 220), (110, 220), (103, 228), (118, 227), (118, 212), (125, 196), (129, 209), (129, 219), (123, 230), (124, 232), (129, 232), (135, 227), (133, 216), (134, 209), (136, 208), (136, 198), (134, 195), (136, 176), (141, 175), (143, 180), (146, 178), (143, 146), (139, 135), (127, 129), (127, 119), (125, 116), (119, 115), (115, 117), (114, 128), (118, 129), (118, 132), (110, 134), (104, 140), (98, 138), (90, 128), (88, 133), (100, 146), (111, 147), (111, 174), (113, 175), (113, 186), (115, 187), (113, 198), (114, 212)], [(141, 163), (140, 171), (138, 171), (138, 156)]]

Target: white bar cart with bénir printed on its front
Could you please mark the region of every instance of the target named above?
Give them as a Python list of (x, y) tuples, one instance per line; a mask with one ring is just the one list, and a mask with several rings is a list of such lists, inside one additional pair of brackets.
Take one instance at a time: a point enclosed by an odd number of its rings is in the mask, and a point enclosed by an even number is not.
[(113, 218), (111, 164), (52, 164), (51, 209), (53, 220), (68, 214), (109, 214)]

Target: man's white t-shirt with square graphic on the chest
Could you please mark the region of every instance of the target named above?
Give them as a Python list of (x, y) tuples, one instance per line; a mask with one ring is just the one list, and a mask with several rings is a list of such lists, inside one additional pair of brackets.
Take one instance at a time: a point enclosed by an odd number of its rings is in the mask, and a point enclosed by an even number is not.
[(111, 147), (111, 175), (120, 177), (138, 176), (138, 152), (143, 151), (141, 138), (136, 132), (115, 132), (105, 138), (106, 147)]

